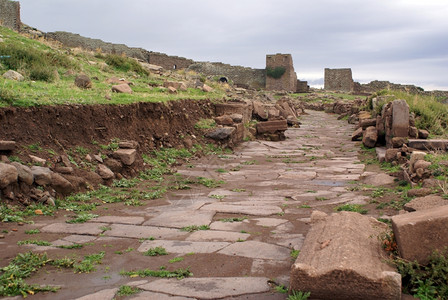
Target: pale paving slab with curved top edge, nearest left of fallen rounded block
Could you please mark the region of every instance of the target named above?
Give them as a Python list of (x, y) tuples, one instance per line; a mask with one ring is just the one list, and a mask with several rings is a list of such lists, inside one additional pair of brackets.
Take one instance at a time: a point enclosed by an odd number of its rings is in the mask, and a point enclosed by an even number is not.
[(234, 243), (219, 251), (219, 254), (248, 258), (285, 260), (290, 259), (290, 249), (258, 241)]

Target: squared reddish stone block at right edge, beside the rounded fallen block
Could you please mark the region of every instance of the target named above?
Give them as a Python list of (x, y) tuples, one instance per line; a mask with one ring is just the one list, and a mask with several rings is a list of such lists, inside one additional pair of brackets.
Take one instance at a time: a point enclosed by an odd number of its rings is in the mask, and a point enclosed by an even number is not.
[(392, 228), (401, 257), (425, 265), (448, 245), (448, 205), (393, 216)]

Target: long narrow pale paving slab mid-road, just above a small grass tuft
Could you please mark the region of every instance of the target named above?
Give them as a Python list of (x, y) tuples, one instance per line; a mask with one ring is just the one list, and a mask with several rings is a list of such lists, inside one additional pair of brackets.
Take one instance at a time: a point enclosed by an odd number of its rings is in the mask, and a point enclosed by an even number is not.
[(270, 216), (282, 212), (281, 208), (278, 206), (233, 205), (222, 202), (204, 205), (201, 210), (252, 216)]

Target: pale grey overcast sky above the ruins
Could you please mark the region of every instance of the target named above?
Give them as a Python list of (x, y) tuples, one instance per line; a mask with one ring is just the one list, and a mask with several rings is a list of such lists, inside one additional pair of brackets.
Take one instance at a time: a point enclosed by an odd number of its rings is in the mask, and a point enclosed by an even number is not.
[(290, 53), (299, 79), (448, 90), (447, 0), (20, 0), (22, 22), (197, 61), (264, 68)]

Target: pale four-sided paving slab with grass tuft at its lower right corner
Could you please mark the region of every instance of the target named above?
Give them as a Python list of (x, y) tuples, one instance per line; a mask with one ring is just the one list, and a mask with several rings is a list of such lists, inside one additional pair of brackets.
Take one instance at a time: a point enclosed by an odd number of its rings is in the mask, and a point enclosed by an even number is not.
[(167, 211), (145, 222), (144, 225), (182, 228), (191, 225), (210, 225), (214, 211)]

